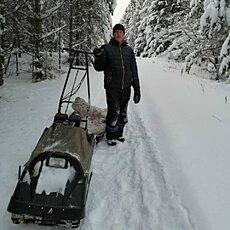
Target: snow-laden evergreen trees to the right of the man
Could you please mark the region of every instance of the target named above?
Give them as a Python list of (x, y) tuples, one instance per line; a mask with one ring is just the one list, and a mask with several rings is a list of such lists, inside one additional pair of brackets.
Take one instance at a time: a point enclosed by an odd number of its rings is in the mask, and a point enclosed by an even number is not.
[(123, 16), (138, 56), (167, 55), (228, 79), (230, 8), (225, 0), (131, 0)]

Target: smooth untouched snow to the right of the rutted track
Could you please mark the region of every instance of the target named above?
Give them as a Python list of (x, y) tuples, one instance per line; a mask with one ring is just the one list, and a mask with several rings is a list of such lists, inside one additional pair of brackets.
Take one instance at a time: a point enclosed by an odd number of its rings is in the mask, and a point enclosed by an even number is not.
[[(162, 72), (156, 68), (155, 81), (144, 81), (142, 88), (154, 105), (152, 117), (159, 119), (151, 129), (160, 133), (158, 146), (170, 181), (199, 220), (195, 229), (228, 229), (229, 85), (181, 76), (172, 68)], [(154, 120), (145, 112), (142, 117), (146, 127)]]

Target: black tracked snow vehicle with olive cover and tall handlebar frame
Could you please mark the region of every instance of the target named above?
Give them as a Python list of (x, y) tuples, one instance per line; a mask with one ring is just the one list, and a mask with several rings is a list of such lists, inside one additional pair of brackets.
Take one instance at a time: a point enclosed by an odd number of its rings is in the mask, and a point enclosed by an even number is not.
[[(70, 52), (71, 62), (58, 113), (53, 124), (45, 128), (22, 173), (19, 167), (19, 180), (8, 205), (14, 223), (78, 227), (85, 216), (96, 135), (88, 132), (87, 114), (82, 118), (76, 112), (70, 113), (69, 105), (74, 103), (72, 97), (85, 79), (90, 105), (90, 53)], [(82, 56), (84, 66), (77, 63)], [(80, 72), (83, 76), (78, 79)]]

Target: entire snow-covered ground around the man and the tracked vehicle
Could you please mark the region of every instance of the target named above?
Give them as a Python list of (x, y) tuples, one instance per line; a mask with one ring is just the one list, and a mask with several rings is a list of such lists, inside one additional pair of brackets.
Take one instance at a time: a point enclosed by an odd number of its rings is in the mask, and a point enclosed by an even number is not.
[[(100, 142), (83, 230), (229, 230), (230, 86), (181, 75), (163, 59), (138, 59), (142, 99), (130, 102), (125, 143)], [(18, 165), (50, 126), (63, 77), (32, 84), (10, 77), (0, 87), (0, 223)], [(102, 73), (91, 70), (92, 104), (105, 107)], [(82, 92), (82, 95), (84, 92)]]

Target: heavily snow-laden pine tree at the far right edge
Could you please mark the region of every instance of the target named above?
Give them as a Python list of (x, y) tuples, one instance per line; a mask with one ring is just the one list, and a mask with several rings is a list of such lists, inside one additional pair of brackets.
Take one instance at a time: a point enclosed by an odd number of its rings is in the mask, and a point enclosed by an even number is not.
[[(210, 50), (214, 50), (216, 60), (213, 68), (217, 71), (217, 79), (228, 79), (230, 76), (230, 46), (229, 46), (229, 11), (230, 3), (225, 0), (204, 1), (204, 13), (201, 16), (201, 31), (207, 37)], [(218, 56), (220, 58), (218, 58)]]

